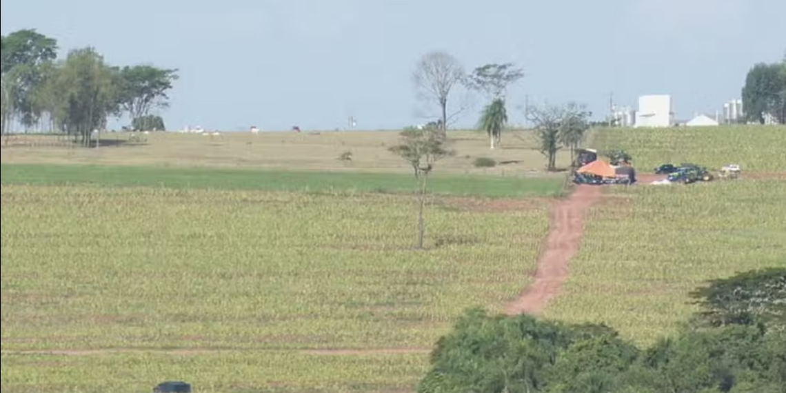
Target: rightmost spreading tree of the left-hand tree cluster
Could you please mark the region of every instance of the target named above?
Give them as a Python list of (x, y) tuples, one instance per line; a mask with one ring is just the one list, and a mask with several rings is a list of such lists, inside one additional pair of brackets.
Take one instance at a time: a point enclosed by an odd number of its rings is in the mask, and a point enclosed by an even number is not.
[(152, 129), (150, 112), (169, 106), (168, 91), (178, 79), (177, 69), (157, 68), (152, 65), (135, 65), (119, 70), (118, 99), (132, 123), (145, 130)]

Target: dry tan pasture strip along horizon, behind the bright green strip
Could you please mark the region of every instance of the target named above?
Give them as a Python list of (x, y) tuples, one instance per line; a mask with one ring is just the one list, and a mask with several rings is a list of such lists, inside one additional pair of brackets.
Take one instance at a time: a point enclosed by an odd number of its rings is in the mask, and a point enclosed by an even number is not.
[[(74, 148), (62, 138), (15, 135), (2, 144), (3, 163), (83, 163), (101, 165), (155, 165), (176, 167), (249, 167), (274, 170), (370, 171), (410, 173), (412, 169), (388, 149), (399, 143), (397, 131), (327, 131), (251, 134), (226, 132), (221, 136), (152, 133), (145, 143), (127, 143), (130, 134), (109, 133), (105, 148)], [(545, 159), (535, 148), (531, 131), (510, 131), (501, 149), (489, 149), (486, 134), (450, 131), (450, 148), (457, 154), (440, 161), (436, 171), (447, 174), (542, 175)], [(352, 153), (351, 162), (338, 160)], [(495, 168), (476, 168), (478, 157), (501, 163)], [(562, 151), (557, 166), (570, 165)]]

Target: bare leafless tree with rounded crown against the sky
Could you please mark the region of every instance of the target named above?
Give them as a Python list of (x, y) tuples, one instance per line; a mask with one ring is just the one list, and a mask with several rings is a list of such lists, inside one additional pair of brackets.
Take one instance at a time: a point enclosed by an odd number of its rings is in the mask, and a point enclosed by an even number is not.
[(444, 135), (449, 120), (447, 101), (456, 86), (465, 80), (464, 68), (452, 55), (445, 52), (426, 53), (412, 75), (418, 97), (435, 102), (441, 113), (439, 130)]

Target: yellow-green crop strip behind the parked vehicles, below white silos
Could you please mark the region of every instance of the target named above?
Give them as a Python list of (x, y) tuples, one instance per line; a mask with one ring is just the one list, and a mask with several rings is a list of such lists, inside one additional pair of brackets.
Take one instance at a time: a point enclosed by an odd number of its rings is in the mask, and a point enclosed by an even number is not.
[(626, 149), (639, 171), (662, 163), (696, 163), (717, 171), (729, 163), (743, 171), (786, 172), (786, 126), (613, 128), (594, 140), (597, 149)]

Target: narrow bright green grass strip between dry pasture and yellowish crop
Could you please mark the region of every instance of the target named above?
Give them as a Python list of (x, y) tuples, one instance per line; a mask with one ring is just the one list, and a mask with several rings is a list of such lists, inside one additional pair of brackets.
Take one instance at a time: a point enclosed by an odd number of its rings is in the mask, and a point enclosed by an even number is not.
[[(169, 189), (256, 189), (305, 193), (413, 193), (413, 174), (273, 171), (227, 168), (130, 167), (104, 165), (2, 164), (6, 185), (112, 185)], [(439, 195), (524, 197), (558, 196), (564, 178), (432, 175)]]

